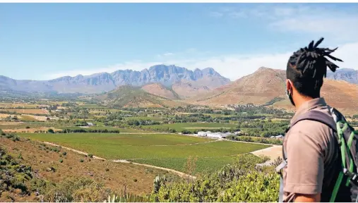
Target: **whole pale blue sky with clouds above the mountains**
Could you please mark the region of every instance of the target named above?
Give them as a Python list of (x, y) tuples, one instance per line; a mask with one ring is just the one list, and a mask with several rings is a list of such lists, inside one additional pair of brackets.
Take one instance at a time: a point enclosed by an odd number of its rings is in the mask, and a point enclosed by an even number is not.
[(0, 75), (18, 80), (215, 68), (285, 69), (311, 40), (358, 70), (358, 4), (0, 4)]

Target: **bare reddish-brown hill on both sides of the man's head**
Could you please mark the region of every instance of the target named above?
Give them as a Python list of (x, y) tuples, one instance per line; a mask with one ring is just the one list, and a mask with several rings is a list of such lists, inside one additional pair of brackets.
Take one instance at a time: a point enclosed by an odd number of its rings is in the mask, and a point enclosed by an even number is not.
[[(285, 70), (259, 68), (255, 73), (216, 88), (208, 94), (187, 99), (193, 104), (266, 104), (269, 106), (292, 109), (285, 96)], [(358, 111), (358, 85), (340, 80), (325, 80), (322, 97), (328, 104), (343, 111)]]

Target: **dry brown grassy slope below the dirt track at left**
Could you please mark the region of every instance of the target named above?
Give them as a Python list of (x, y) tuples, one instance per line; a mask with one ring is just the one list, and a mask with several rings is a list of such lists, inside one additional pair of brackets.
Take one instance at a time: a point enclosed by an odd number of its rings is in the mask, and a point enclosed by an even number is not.
[[(37, 174), (40, 178), (57, 183), (70, 177), (93, 178), (97, 182), (104, 183), (106, 187), (112, 190), (123, 190), (124, 185), (126, 185), (127, 192), (141, 195), (153, 189), (153, 179), (157, 174), (167, 174), (177, 178), (176, 175), (167, 171), (134, 164), (90, 159), (66, 149), (61, 149), (60, 153), (40, 149), (40, 143), (35, 141), (13, 142), (0, 137), (0, 146), (4, 147), (14, 157), (21, 154), (23, 156), (21, 162), (31, 166), (33, 171), (38, 171)], [(48, 147), (51, 148), (52, 146)], [(61, 155), (63, 152), (67, 153), (66, 156)], [(63, 160), (63, 163), (59, 162), (60, 159)], [(80, 159), (84, 161), (81, 163)], [(47, 171), (49, 167), (56, 168), (56, 172)], [(109, 171), (106, 171), (106, 168)], [(134, 182), (134, 179), (138, 181)]]

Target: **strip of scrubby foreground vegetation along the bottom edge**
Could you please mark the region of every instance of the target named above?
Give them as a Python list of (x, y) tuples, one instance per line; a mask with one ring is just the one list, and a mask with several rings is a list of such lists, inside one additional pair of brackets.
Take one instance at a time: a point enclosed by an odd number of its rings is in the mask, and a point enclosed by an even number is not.
[[(7, 137), (10, 138), (6, 139), (11, 139), (11, 136)], [(23, 157), (19, 156), (17, 159), (23, 162)], [(37, 176), (37, 172), (30, 166), (21, 164), (0, 147), (0, 201), (276, 202), (279, 178), (273, 172), (274, 166), (256, 167), (256, 164), (263, 161), (257, 156), (246, 154), (238, 156), (232, 164), (213, 173), (202, 173), (196, 179), (188, 177), (169, 180), (167, 176), (157, 176), (153, 180), (152, 192), (133, 195), (126, 188), (118, 192), (119, 190), (105, 187), (93, 178), (73, 177), (58, 183), (45, 180)], [(196, 160), (189, 159), (186, 168), (189, 172), (195, 170)], [(55, 168), (50, 169), (56, 171)]]

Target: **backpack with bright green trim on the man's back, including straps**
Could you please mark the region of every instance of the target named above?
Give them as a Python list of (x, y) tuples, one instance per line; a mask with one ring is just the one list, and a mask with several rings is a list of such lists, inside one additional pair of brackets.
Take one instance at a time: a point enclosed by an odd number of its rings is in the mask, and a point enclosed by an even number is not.
[[(333, 119), (321, 111), (308, 111), (293, 121), (290, 127), (287, 128), (286, 133), (293, 125), (303, 120), (318, 121), (333, 129), (338, 141), (338, 147), (340, 147), (339, 151), (342, 166), (338, 166), (340, 167), (338, 178), (333, 180), (332, 184), (335, 185), (332, 195), (330, 196), (330, 202), (335, 202), (338, 192), (342, 192), (343, 190), (348, 191), (347, 195), (350, 196), (352, 202), (358, 202), (358, 130), (354, 130), (354, 128), (347, 123), (344, 116), (336, 109), (330, 108), (330, 113)], [(283, 202), (282, 169), (287, 165), (287, 156), (283, 145), (282, 158), (282, 163), (276, 167), (276, 172), (281, 176), (279, 202)], [(343, 189), (343, 187), (345, 189)], [(347, 195), (345, 195), (345, 197), (347, 197)]]

